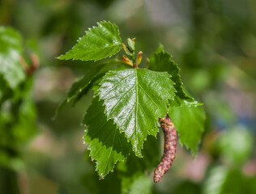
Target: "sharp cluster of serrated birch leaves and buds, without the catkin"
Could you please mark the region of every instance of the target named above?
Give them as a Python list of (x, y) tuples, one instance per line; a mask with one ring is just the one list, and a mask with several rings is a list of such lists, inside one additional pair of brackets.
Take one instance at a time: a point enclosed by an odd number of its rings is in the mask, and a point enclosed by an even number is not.
[[(122, 43), (117, 26), (110, 22), (98, 23), (98, 27), (89, 29), (87, 35), (78, 41), (58, 59), (99, 60), (117, 53)], [(104, 65), (92, 66), (88, 74), (71, 86), (60, 105), (62, 108), (85, 88), (88, 91), (93, 85), (99, 85), (94, 89), (97, 97), (92, 100), (83, 124), (87, 125), (84, 140), (89, 144), (92, 159), (96, 160), (100, 178), (113, 171), (116, 162), (124, 161), (130, 153), (130, 144), (134, 154), (142, 157), (144, 141), (148, 135), (156, 135), (156, 123), (167, 113), (177, 124), (181, 144), (193, 154), (196, 154), (203, 133), (205, 116), (203, 109), (197, 107), (202, 104), (185, 93), (179, 68), (169, 53), (164, 52), (163, 47), (158, 48), (151, 54), (149, 70), (139, 69), (142, 52), (135, 59), (134, 39), (128, 39), (127, 44), (122, 44), (130, 57), (123, 56), (122, 62), (127, 65), (125, 70), (113, 69), (100, 74)], [(102, 77), (100, 82), (92, 83), (96, 77)], [(190, 125), (194, 128), (188, 129)]]

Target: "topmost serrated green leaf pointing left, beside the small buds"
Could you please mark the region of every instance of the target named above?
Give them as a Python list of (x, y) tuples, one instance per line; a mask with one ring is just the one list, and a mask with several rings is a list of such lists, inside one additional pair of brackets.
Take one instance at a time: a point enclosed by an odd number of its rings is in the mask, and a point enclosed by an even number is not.
[(122, 48), (118, 27), (110, 22), (99, 22), (98, 27), (89, 28), (86, 36), (79, 38), (78, 44), (58, 59), (100, 60), (111, 57)]

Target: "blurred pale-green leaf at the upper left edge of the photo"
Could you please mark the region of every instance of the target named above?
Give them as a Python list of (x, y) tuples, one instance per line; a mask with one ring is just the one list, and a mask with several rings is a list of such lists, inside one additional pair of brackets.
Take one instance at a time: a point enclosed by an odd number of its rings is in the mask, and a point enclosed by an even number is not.
[(0, 74), (11, 89), (26, 77), (19, 62), (21, 53), (22, 39), (19, 33), (11, 27), (0, 27)]

